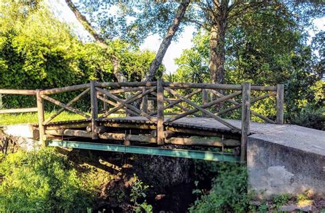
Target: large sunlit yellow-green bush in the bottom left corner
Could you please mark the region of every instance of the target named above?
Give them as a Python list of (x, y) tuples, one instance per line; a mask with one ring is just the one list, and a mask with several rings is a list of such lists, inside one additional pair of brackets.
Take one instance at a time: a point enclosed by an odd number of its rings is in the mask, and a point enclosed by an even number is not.
[(67, 158), (51, 148), (6, 155), (0, 175), (0, 212), (86, 211), (93, 202)]

